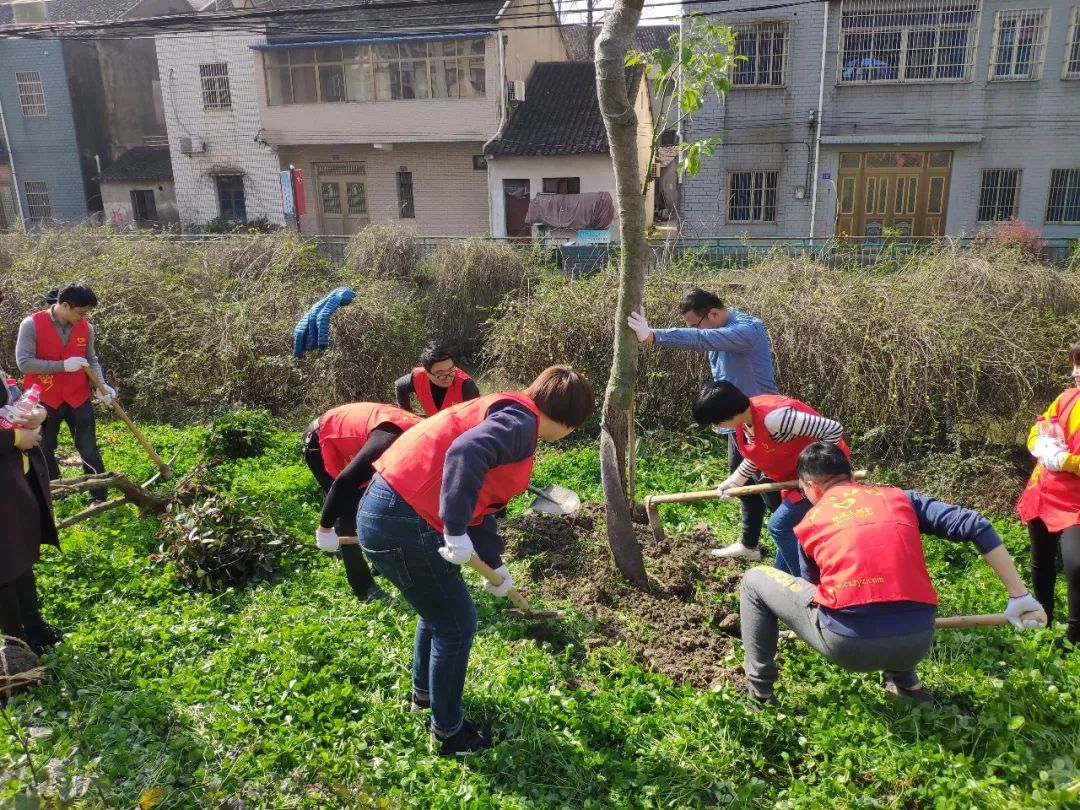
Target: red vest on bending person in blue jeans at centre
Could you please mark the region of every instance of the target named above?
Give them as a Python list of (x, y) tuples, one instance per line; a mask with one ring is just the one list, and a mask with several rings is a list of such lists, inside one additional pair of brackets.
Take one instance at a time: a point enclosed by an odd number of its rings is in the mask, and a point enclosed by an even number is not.
[[(443, 490), (443, 463), (446, 451), (458, 436), (484, 421), (488, 411), (498, 403), (516, 402), (527, 407), (537, 418), (537, 437), (540, 432), (540, 411), (532, 400), (522, 393), (488, 394), (440, 410), (430, 419), (402, 435), (375, 462), (376, 471), (397, 495), (405, 499), (416, 513), (442, 531), (438, 499)], [(532, 476), (534, 456), (511, 464), (500, 464), (487, 472), (470, 526), (485, 516), (495, 514), (512, 498), (525, 491)]]

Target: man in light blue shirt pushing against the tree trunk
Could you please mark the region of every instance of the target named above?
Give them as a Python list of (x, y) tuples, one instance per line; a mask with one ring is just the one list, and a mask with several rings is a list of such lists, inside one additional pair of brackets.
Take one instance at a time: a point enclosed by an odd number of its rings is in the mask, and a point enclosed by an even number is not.
[[(772, 375), (772, 348), (765, 324), (757, 318), (740, 312), (733, 307), (725, 307), (715, 293), (699, 287), (688, 289), (679, 301), (685, 327), (653, 329), (645, 315), (632, 312), (627, 319), (637, 339), (647, 346), (664, 346), (672, 349), (707, 351), (708, 365), (714, 380), (727, 380), (747, 396), (777, 393), (777, 381)], [(724, 431), (728, 437), (728, 468), (733, 473), (743, 457), (734, 438), (734, 432)], [(757, 478), (761, 481), (764, 478)], [(739, 499), (742, 511), (740, 538), (724, 549), (713, 549), (718, 557), (761, 558), (758, 548), (765, 510), (775, 510), (780, 497), (775, 492), (752, 495)]]

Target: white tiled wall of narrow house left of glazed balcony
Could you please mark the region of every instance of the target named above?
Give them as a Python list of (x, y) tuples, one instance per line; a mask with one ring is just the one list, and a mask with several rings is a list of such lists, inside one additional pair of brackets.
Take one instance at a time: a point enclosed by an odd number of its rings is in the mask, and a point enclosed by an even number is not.
[[(184, 227), (204, 225), (220, 214), (215, 176), (237, 172), (244, 177), (247, 218), (267, 217), (282, 225), (278, 154), (258, 139), (261, 124), (252, 45), (266, 42), (266, 38), (212, 31), (162, 35), (157, 40), (176, 202)], [(229, 66), (231, 109), (203, 107), (199, 66), (214, 63)], [(181, 138), (202, 140), (206, 149), (184, 154)]]

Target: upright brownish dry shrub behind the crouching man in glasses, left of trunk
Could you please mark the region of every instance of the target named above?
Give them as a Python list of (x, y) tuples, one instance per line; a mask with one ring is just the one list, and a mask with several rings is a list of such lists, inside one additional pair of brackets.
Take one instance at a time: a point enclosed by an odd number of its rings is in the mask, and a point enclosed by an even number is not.
[(473, 356), (484, 345), (485, 323), (496, 306), (528, 287), (529, 268), (528, 256), (508, 244), (482, 239), (441, 244), (423, 296), (438, 340)]

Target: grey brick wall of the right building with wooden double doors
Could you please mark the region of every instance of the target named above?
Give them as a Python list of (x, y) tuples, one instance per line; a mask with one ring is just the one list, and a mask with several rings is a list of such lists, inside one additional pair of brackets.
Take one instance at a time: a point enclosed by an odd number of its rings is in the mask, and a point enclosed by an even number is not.
[[(975, 65), (971, 81), (906, 84), (839, 84), (840, 3), (827, 4), (828, 49), (825, 60), (823, 136), (846, 136), (866, 141), (842, 151), (892, 150), (897, 146), (918, 151), (950, 150), (954, 164), (946, 216), (946, 232), (973, 233), (982, 172), (985, 168), (1021, 168), (1018, 216), (1039, 227), (1047, 237), (1077, 237), (1080, 226), (1045, 225), (1050, 172), (1080, 167), (1080, 81), (1061, 78), (1068, 22), (1075, 0), (1048, 0), (1051, 10), (1049, 40), (1042, 78), (1038, 81), (987, 80), (995, 13), (1020, 8), (1009, 0), (986, 0), (980, 16)], [(683, 188), (684, 232), (688, 235), (794, 235), (810, 231), (810, 194), (807, 184), (813, 146), (811, 112), (818, 106), (821, 75), (821, 37), (825, 5), (804, 5), (731, 13), (753, 6), (747, 0), (708, 4), (703, 11), (727, 23), (752, 19), (789, 25), (786, 85), (781, 89), (737, 89), (723, 103), (710, 98), (688, 127), (688, 138), (720, 136), (724, 144), (704, 161), (697, 177)], [(725, 16), (727, 12), (727, 16)], [(949, 133), (975, 134), (981, 143), (950, 140)], [(931, 138), (932, 143), (915, 139)], [(819, 177), (815, 235), (835, 229), (839, 147), (823, 146)], [(728, 224), (727, 177), (738, 170), (777, 170), (778, 221), (774, 225)], [(825, 179), (823, 175), (829, 175)], [(807, 184), (807, 199), (794, 199), (796, 185)]]

